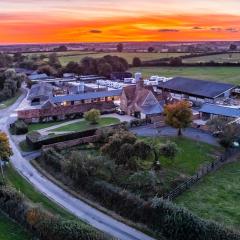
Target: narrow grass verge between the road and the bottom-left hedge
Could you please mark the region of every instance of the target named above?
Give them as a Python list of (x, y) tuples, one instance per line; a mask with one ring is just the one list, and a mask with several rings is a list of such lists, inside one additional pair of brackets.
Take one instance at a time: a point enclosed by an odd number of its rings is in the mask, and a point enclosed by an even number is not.
[(21, 191), (32, 202), (39, 203), (52, 213), (58, 214), (66, 219), (76, 219), (67, 210), (61, 208), (56, 203), (52, 202), (50, 199), (37, 191), (27, 180), (19, 175), (11, 165), (6, 168), (5, 174), (8, 183), (17, 190)]

